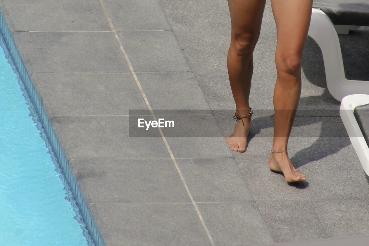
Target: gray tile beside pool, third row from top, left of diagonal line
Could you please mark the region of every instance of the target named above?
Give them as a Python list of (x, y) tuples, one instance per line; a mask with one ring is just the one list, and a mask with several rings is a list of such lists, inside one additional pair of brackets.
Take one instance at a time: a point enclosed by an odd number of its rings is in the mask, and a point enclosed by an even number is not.
[(49, 117), (55, 115), (128, 115), (147, 109), (132, 74), (31, 75)]

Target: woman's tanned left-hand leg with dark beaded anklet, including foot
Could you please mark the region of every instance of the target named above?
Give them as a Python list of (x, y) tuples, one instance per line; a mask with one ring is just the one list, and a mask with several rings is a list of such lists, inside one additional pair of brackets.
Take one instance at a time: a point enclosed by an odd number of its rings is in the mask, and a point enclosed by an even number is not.
[[(237, 115), (250, 112), (249, 95), (254, 69), (252, 52), (259, 38), (265, 1), (228, 0), (232, 30), (227, 66)], [(226, 139), (231, 150), (246, 150), (250, 124), (250, 117), (237, 120), (233, 133)]]

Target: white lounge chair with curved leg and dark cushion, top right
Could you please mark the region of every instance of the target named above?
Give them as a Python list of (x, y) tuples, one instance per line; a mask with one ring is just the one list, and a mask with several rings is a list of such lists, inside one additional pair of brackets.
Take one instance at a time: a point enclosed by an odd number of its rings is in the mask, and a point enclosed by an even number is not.
[[(369, 94), (369, 81), (346, 79), (337, 35), (337, 33), (348, 34), (349, 30), (360, 26), (369, 26), (369, 1), (353, 2), (352, 0), (314, 1), (308, 31), (308, 35), (317, 42), (322, 51), (328, 91), (338, 101), (351, 94)], [(317, 7), (320, 5), (323, 7)], [(334, 21), (332, 22), (331, 19)], [(369, 45), (366, 48), (369, 48)]]

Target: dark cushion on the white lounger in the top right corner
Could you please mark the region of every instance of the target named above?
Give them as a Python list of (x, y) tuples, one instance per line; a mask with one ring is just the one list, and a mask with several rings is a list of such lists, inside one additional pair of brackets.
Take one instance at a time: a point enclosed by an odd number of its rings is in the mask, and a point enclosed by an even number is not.
[(335, 25), (369, 26), (369, 0), (314, 0)]

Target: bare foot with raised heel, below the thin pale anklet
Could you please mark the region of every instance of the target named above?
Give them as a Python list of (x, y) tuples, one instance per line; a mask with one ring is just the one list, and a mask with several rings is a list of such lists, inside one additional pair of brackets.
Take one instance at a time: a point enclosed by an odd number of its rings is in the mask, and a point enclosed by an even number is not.
[(270, 153), (268, 165), (272, 171), (283, 172), (284, 178), (287, 182), (306, 180), (306, 176), (296, 170), (288, 154), (285, 152)]

